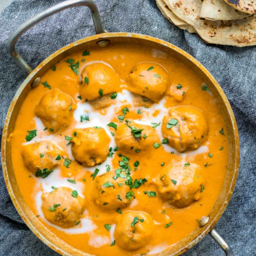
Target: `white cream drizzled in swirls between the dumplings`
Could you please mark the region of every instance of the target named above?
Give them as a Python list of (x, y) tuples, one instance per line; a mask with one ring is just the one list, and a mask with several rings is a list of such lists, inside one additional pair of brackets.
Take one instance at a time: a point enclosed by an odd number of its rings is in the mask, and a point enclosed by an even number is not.
[[(156, 53), (156, 54), (159, 54), (159, 53)], [(125, 87), (125, 85), (123, 87)], [(168, 109), (164, 106), (165, 105), (165, 97), (162, 98), (162, 100), (159, 101), (158, 103), (154, 103), (149, 108), (135, 107), (133, 105), (132, 94), (128, 90), (125, 90), (125, 89), (123, 89), (122, 92), (119, 92), (117, 94), (116, 103), (107, 108), (106, 115), (102, 115), (100, 113), (100, 111), (94, 110), (92, 108), (92, 106), (90, 105), (90, 103), (88, 103), (88, 102), (77, 103), (77, 108), (74, 111), (74, 118), (76, 120), (75, 128), (87, 128), (87, 127), (94, 127), (94, 126), (99, 126), (99, 127), (104, 128), (106, 133), (108, 134), (108, 136), (111, 138), (110, 147), (112, 147), (112, 152), (113, 152), (113, 149), (115, 148), (116, 144), (115, 144), (114, 137), (112, 136), (111, 132), (113, 132), (114, 130), (113, 130), (113, 128), (107, 126), (107, 124), (111, 122), (112, 117), (114, 115), (116, 115), (117, 112), (120, 111), (120, 108), (124, 104), (131, 105), (131, 107), (129, 107), (130, 111), (137, 112), (138, 109), (141, 110), (140, 118), (135, 119), (134, 120), (135, 123), (152, 126), (152, 123), (160, 122), (160, 126), (156, 127), (155, 131), (156, 131), (156, 133), (158, 133), (161, 140), (164, 139), (162, 137), (162, 133), (161, 133), (161, 124), (162, 124), (162, 119), (164, 118), (164, 116), (166, 116), (168, 114)], [(159, 114), (157, 116), (153, 116), (153, 113), (156, 110), (159, 110)], [(80, 116), (85, 116), (85, 114), (88, 114), (89, 121), (80, 122)], [(124, 119), (126, 119), (126, 118), (124, 118)], [(35, 141), (42, 141), (42, 140), (50, 140), (51, 142), (55, 141), (58, 143), (61, 139), (63, 139), (54, 134), (45, 135), (45, 133), (43, 133), (44, 125), (39, 118), (34, 117), (34, 122), (36, 123), (36, 129), (38, 131), (37, 136), (35, 138), (33, 138), (30, 142), (25, 142), (23, 144), (30, 144)], [(120, 123), (117, 123), (117, 125), (119, 125), (119, 124)], [(186, 158), (191, 159), (198, 154), (208, 153), (208, 151), (209, 151), (209, 148), (207, 145), (203, 145), (200, 148), (198, 148), (197, 150), (190, 151), (188, 153), (178, 153), (177, 150), (175, 150), (168, 144), (162, 144), (162, 146), (165, 151), (167, 151), (167, 152), (174, 151), (175, 154), (180, 155), (182, 157), (182, 161), (184, 163), (186, 161)], [(71, 147), (70, 146), (66, 147), (66, 150), (67, 150), (67, 154), (68, 154), (69, 158), (71, 160), (74, 160), (74, 158), (71, 154)], [(116, 153), (114, 153), (114, 154), (116, 154)], [(100, 170), (98, 175), (101, 175), (106, 172), (106, 169), (107, 169), (106, 165), (110, 165), (110, 167), (112, 167), (112, 158), (108, 157), (107, 160), (105, 162), (103, 162), (101, 165), (97, 165), (94, 167), (83, 167), (83, 168), (84, 168), (84, 170), (90, 171), (91, 173), (95, 172), (95, 169), (97, 168)], [(38, 187), (40, 187), (40, 186), (42, 187), (43, 192), (52, 191), (52, 188), (51, 188), (52, 186), (54, 186), (54, 187), (69, 187), (69, 188), (72, 188), (73, 190), (78, 191), (79, 195), (81, 197), (84, 197), (82, 194), (82, 191), (85, 188), (85, 183), (76, 181), (76, 184), (73, 184), (73, 183), (68, 182), (67, 181), (68, 178), (63, 178), (60, 175), (59, 168), (56, 168), (51, 175), (49, 175), (48, 177), (46, 177), (44, 179), (42, 179), (42, 178), (35, 178), (35, 179), (37, 181)], [(70, 177), (70, 179), (72, 179), (72, 177)], [(38, 192), (37, 196), (36, 196), (37, 210), (38, 210), (38, 213), (41, 216), (41, 218), (43, 218), (43, 220), (49, 226), (53, 226), (54, 228), (56, 228), (60, 231), (64, 231), (67, 234), (90, 233), (90, 239), (89, 239), (88, 243), (89, 243), (89, 245), (91, 245), (93, 247), (101, 247), (105, 244), (111, 244), (111, 242), (114, 241), (114, 230), (116, 228), (116, 224), (113, 224), (111, 226), (110, 237), (107, 237), (107, 236), (95, 234), (93, 232), (93, 230), (97, 229), (97, 225), (95, 225), (94, 222), (87, 217), (81, 218), (81, 223), (78, 226), (75, 226), (75, 227), (69, 228), (69, 229), (63, 229), (57, 225), (54, 225), (54, 224), (48, 222), (44, 218), (44, 215), (43, 215), (43, 212), (41, 209), (41, 206), (42, 206), (41, 195), (42, 195), (42, 191)], [(136, 199), (134, 199), (132, 204), (130, 205), (130, 207), (134, 207), (137, 204), (138, 204), (138, 201)], [(166, 248), (166, 246), (167, 246), (166, 244), (159, 244), (154, 247), (148, 246), (147, 247), (149, 249), (148, 254), (154, 254), (154, 253), (161, 252), (163, 249)]]

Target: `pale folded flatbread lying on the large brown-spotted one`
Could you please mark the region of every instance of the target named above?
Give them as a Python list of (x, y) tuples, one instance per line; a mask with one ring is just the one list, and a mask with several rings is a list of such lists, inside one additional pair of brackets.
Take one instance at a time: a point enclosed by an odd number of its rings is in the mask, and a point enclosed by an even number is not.
[(203, 0), (200, 19), (232, 21), (246, 18), (251, 14), (240, 12), (223, 0)]

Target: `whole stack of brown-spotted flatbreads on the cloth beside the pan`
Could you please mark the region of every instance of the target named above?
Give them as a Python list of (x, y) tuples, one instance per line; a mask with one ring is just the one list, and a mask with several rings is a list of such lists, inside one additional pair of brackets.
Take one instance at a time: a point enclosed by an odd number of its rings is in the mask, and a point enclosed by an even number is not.
[(256, 0), (156, 0), (177, 27), (204, 41), (232, 46), (256, 44)]

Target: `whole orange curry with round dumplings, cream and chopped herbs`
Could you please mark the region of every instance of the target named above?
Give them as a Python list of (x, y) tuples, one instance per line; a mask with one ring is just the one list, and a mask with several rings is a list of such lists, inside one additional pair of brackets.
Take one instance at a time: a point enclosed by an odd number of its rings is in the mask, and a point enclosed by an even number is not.
[(38, 220), (93, 255), (186, 237), (222, 188), (228, 141), (210, 89), (181, 61), (126, 44), (84, 49), (31, 89), (10, 137)]

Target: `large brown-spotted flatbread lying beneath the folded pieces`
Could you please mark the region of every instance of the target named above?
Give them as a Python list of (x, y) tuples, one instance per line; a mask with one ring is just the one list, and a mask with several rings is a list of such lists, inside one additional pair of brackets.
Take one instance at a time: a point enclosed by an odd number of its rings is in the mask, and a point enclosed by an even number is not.
[(235, 21), (200, 20), (201, 0), (168, 0), (169, 9), (181, 20), (195, 28), (206, 42), (231, 46), (256, 45), (256, 18)]

